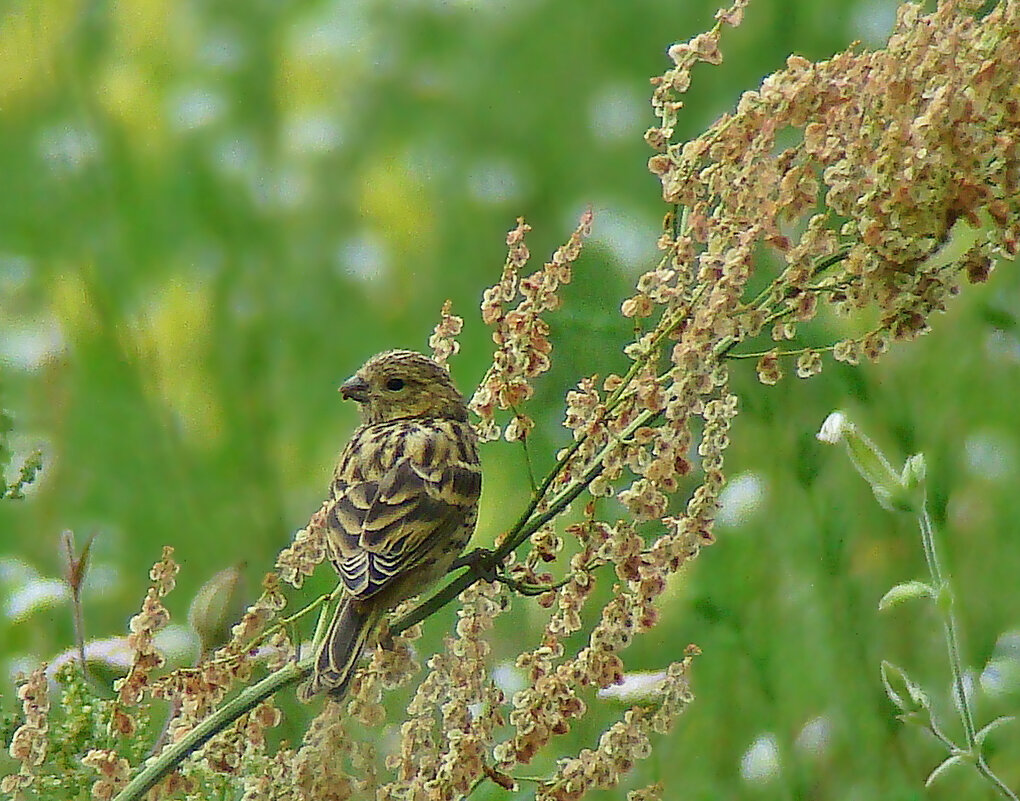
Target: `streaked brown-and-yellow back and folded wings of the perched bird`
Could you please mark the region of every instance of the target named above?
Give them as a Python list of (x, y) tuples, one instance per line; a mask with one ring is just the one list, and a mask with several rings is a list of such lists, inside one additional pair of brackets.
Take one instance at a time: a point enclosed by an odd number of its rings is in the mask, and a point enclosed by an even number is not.
[(473, 447), (439, 425), (399, 427), (354, 451), (334, 482), (329, 550), (348, 592), (364, 599), (468, 524), (481, 473)]

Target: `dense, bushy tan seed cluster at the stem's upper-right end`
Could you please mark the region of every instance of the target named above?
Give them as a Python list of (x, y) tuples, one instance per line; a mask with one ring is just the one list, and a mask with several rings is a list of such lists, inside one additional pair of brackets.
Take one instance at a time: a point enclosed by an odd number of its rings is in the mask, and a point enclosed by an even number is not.
[[(694, 321), (733, 341), (771, 327), (781, 343), (825, 306), (843, 314), (874, 307), (872, 331), (826, 348), (857, 363), (927, 331), (961, 276), (983, 281), (997, 256), (1017, 254), (1020, 11), (1002, 2), (974, 16), (980, 5), (942, 2), (924, 15), (905, 4), (883, 50), (819, 63), (792, 56), (686, 143), (670, 141), (678, 97), (696, 61), (718, 59), (719, 26), (670, 50), (675, 66), (656, 81), (661, 124), (646, 139), (659, 151), (649, 166), (663, 198), (685, 209), (685, 224), (660, 241), (660, 272), (711, 281)], [(958, 220), (980, 234), (963, 255), (941, 260)], [(782, 259), (779, 274), (750, 301), (742, 291), (720, 297), (713, 277), (743, 290), (750, 272), (737, 251), (760, 245)], [(661, 294), (659, 279), (649, 284)], [(625, 310), (648, 315), (655, 302), (643, 290)], [(817, 351), (788, 353), (801, 378), (822, 368)], [(762, 355), (763, 383), (781, 378), (782, 355)]]

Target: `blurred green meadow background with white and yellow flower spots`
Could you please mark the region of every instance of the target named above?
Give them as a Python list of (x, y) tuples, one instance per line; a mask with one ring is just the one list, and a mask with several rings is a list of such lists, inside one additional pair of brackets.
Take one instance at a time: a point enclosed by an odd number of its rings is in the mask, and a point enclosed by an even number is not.
[[(624, 363), (619, 303), (656, 258), (664, 208), (645, 167), (648, 79), (715, 8), (8, 0), (0, 402), (18, 452), (41, 447), (45, 469), (28, 500), (0, 505), (4, 708), (17, 669), (72, 643), (62, 530), (80, 544), (96, 535), (90, 639), (125, 631), (164, 544), (183, 565), (175, 622), (224, 567), (243, 565), (254, 596), (355, 425), (342, 380), (377, 350), (424, 349), (449, 297), (466, 318), (453, 369), (469, 393), (491, 347), (476, 307), (505, 232), (525, 215), (541, 259), (592, 204), (593, 239), (550, 317), (555, 368), (531, 409), (547, 466), (564, 441), (566, 390)], [(681, 136), (790, 52), (880, 46), (894, 9), (756, 0), (724, 36), (726, 62), (696, 70)], [(828, 364), (774, 388), (756, 383), (753, 362), (734, 366), (743, 413), (719, 542), (624, 654), (628, 669), (657, 669), (698, 643), (698, 701), (627, 787), (663, 780), (667, 797), (693, 799), (990, 797), (963, 770), (921, 789), (940, 752), (894, 719), (878, 664), (910, 669), (948, 712), (944, 644), (922, 604), (876, 612), (888, 587), (921, 578), (917, 532), (814, 434), (843, 407), (896, 459), (926, 453), (979, 716), (1015, 712), (1020, 286), (1005, 266), (878, 365)], [(823, 317), (812, 336), (831, 341), (843, 324)], [(516, 449), (494, 444), (483, 459), (480, 543), (527, 492)], [(296, 600), (330, 585), (323, 569)], [(531, 646), (520, 634), (529, 618), (539, 610), (520, 601), (501, 620), (501, 659)], [(589, 700), (563, 753), (594, 746), (620, 714)], [(293, 739), (309, 710), (285, 706)], [(1020, 729), (989, 745), (1020, 785)], [(531, 772), (551, 769), (546, 759)]]

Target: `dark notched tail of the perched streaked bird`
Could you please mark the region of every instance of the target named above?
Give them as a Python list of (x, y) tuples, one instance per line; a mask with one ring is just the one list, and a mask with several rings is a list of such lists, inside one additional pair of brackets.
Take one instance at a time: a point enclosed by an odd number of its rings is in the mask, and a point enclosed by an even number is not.
[(337, 701), (344, 697), (358, 657), (379, 617), (371, 605), (368, 609), (360, 606), (350, 596), (341, 598), (315, 655), (312, 678), (299, 691), (302, 701), (309, 701), (319, 693), (328, 693)]

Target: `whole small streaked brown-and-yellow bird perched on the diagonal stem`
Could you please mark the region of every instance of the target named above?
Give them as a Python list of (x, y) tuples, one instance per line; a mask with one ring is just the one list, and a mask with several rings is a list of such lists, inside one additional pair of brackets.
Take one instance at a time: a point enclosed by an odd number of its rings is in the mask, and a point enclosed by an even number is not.
[(343, 698), (382, 614), (450, 569), (474, 531), (481, 468), (467, 407), (427, 356), (372, 356), (340, 388), (362, 424), (329, 486), (326, 555), (344, 585), (299, 695)]

